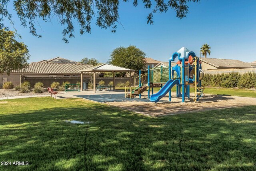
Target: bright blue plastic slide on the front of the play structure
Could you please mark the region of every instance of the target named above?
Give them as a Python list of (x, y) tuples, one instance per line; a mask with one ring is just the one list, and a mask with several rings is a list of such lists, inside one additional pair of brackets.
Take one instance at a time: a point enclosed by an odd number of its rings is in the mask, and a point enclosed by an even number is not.
[(164, 84), (164, 86), (155, 94), (152, 94), (150, 96), (150, 101), (152, 102), (158, 102), (162, 97), (164, 97), (171, 89), (174, 85), (179, 84), (180, 80), (169, 80), (168, 82), (166, 82), (166, 84)]

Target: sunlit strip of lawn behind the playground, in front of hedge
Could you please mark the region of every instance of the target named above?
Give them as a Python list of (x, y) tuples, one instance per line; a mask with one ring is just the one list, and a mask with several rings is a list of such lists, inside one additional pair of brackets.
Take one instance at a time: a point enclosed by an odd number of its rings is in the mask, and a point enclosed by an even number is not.
[[(120, 87), (118, 89), (124, 89), (124, 87)], [(154, 92), (159, 91), (160, 88), (154, 88)], [(176, 92), (176, 86), (172, 88), (173, 92)], [(194, 92), (194, 87), (190, 86), (190, 93)], [(234, 95), (234, 96), (242, 96), (242, 97), (256, 97), (255, 90), (248, 89), (235, 89), (235, 88), (212, 88), (205, 87), (204, 93), (207, 94), (218, 94), (218, 95)], [(151, 89), (150, 89), (151, 94)]]

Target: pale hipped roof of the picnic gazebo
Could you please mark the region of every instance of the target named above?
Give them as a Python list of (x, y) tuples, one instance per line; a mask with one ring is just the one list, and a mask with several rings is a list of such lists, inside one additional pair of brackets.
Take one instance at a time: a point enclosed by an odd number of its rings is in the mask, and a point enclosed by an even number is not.
[(102, 65), (98, 65), (98, 66), (93, 66), (90, 68), (86, 68), (84, 70), (80, 70), (79, 72), (94, 72), (94, 71), (98, 71), (98, 72), (112, 72), (112, 71), (116, 71), (116, 72), (134, 72), (134, 70), (132, 69), (128, 69), (128, 68), (123, 68), (120, 66), (114, 66), (114, 65), (110, 65), (110, 64), (102, 64)]

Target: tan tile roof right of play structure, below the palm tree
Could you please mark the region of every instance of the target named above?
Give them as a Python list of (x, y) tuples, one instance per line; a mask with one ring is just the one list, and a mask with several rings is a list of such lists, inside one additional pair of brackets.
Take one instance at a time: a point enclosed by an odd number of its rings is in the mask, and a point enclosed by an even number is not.
[(240, 60), (200, 58), (200, 61), (215, 66), (216, 68), (252, 68), (249, 63)]

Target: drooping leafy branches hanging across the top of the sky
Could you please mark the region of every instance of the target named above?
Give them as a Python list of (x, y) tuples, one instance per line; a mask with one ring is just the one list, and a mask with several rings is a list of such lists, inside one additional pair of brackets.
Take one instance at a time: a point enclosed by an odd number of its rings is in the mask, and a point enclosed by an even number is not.
[[(0, 29), (5, 27), (4, 18), (7, 18), (13, 26), (12, 15), (7, 9), (10, 0), (2, 0), (0, 3)], [(118, 8), (120, 2), (129, 2), (128, 0), (15, 0), (13, 2), (14, 11), (18, 14), (23, 27), (30, 29), (34, 36), (41, 37), (36, 32), (35, 24), (38, 24), (37, 18), (42, 18), (45, 22), (50, 22), (56, 17), (58, 22), (64, 26), (62, 31), (64, 42), (74, 37), (73, 24), (78, 23), (80, 34), (91, 32), (91, 21), (96, 17), (96, 25), (100, 28), (110, 28), (116, 32), (117, 23), (119, 23)], [(167, 12), (173, 9), (176, 17), (182, 19), (188, 13), (188, 4), (190, 2), (200, 2), (200, 0), (143, 0), (144, 8), (151, 9), (148, 14), (147, 24), (153, 24), (153, 14), (156, 12)], [(11, 1), (12, 3), (12, 1)], [(138, 0), (133, 0), (133, 6), (138, 5)]]

